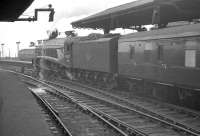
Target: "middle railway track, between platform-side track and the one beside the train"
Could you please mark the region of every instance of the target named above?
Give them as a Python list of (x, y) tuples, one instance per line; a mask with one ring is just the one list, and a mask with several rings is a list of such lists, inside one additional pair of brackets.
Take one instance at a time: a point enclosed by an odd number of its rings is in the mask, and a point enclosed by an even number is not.
[[(182, 124), (172, 123), (168, 118), (158, 118), (148, 112), (130, 108), (124, 104), (119, 104), (105, 96), (93, 95), (77, 89), (67, 88), (52, 82), (57, 87), (62, 88), (63, 93), (76, 99), (79, 103), (86, 104), (93, 109), (97, 109), (104, 115), (104, 118), (111, 119), (118, 126), (125, 124), (128, 129), (134, 129), (144, 135), (199, 135), (198, 131), (185, 128)], [(85, 90), (85, 89), (84, 89)], [(121, 101), (121, 100), (120, 100)], [(163, 117), (163, 116), (162, 116)], [(111, 122), (112, 122), (111, 121)]]

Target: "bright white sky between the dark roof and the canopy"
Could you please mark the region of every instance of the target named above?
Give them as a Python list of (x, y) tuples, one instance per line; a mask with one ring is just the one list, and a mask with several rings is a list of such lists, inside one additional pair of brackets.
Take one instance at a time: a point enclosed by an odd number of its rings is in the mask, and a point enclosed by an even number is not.
[[(35, 8), (47, 8), (48, 4), (52, 4), (55, 9), (54, 22), (48, 22), (49, 13), (44, 12), (39, 14), (39, 21), (36, 22), (0, 22), (0, 44), (5, 44), (4, 56), (8, 56), (9, 49), (11, 55), (15, 56), (17, 41), (21, 42), (20, 49), (28, 48), (31, 41), (47, 38), (47, 30), (72, 30), (72, 21), (132, 1), (134, 0), (35, 0), (23, 13), (26, 15), (23, 17), (33, 16)], [(87, 35), (95, 31), (81, 29), (76, 32)]]

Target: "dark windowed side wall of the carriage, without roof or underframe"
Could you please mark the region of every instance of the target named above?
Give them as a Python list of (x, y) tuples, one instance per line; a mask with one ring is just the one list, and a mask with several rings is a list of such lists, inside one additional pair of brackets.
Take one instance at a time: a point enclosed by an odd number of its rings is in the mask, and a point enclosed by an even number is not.
[(119, 40), (119, 74), (200, 87), (200, 37)]

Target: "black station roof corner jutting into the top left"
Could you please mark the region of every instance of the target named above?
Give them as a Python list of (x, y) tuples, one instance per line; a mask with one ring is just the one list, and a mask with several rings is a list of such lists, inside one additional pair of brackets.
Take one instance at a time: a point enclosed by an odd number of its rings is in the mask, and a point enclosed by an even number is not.
[(0, 22), (15, 21), (34, 0), (1, 0)]

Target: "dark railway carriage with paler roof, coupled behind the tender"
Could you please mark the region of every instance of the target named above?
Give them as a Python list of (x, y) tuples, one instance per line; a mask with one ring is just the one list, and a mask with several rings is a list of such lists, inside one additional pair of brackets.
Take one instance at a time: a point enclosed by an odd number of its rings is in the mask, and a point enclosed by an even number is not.
[(200, 24), (122, 36), (118, 49), (119, 84), (156, 98), (192, 98), (197, 102), (199, 53)]

